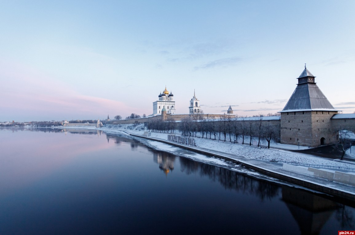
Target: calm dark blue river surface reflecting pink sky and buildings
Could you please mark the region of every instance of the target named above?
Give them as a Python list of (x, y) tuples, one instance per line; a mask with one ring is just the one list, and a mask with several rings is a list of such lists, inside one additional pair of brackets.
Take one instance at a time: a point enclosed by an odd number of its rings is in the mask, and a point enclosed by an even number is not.
[(0, 129), (0, 234), (337, 234), (344, 202), (118, 134)]

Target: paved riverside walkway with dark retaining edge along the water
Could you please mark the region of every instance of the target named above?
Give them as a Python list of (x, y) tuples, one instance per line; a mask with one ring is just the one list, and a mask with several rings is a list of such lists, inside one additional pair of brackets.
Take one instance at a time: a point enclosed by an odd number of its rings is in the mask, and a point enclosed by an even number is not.
[(229, 153), (219, 152), (219, 151), (205, 149), (196, 146), (191, 147), (191, 146), (170, 142), (156, 137), (147, 137), (147, 136), (137, 135), (132, 133), (128, 133), (128, 134), (131, 136), (163, 142), (166, 144), (189, 149), (203, 154), (213, 155), (215, 157), (222, 158), (234, 162), (236, 164), (244, 165), (250, 169), (256, 170), (268, 176), (275, 177), (277, 179), (285, 180), (296, 185), (307, 187), (319, 192), (327, 193), (332, 196), (337, 196), (341, 198), (346, 198), (351, 201), (355, 201), (355, 187), (353, 186), (340, 184), (337, 182), (325, 180), (310, 175), (300, 174), (294, 171), (285, 170), (282, 169), (282, 166), (280, 166), (279, 164), (273, 164), (271, 162), (265, 162), (262, 160), (249, 159), (249, 158), (245, 158), (245, 157), (241, 157)]

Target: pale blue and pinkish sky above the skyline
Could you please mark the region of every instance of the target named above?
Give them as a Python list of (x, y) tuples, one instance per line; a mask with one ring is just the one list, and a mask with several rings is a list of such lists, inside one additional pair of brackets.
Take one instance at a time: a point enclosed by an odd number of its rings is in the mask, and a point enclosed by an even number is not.
[(281, 111), (307, 69), (355, 111), (355, 1), (0, 0), (0, 121)]

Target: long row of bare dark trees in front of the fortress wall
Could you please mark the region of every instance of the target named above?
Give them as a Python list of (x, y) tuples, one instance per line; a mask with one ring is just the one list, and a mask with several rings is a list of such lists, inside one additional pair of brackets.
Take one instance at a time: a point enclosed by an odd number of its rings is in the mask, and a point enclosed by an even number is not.
[[(162, 119), (151, 119), (147, 122), (147, 128), (152, 132), (174, 133), (176, 122), (169, 117), (165, 121)], [(202, 138), (214, 140), (229, 141), (238, 143), (238, 138), (242, 139), (245, 144), (245, 138), (249, 137), (249, 145), (252, 140), (258, 141), (260, 146), (261, 140), (268, 142), (279, 141), (280, 127), (279, 123), (264, 121), (263, 115), (259, 115), (253, 120), (247, 120), (246, 117), (238, 117), (237, 115), (222, 115), (218, 119), (213, 117), (207, 118), (203, 113), (193, 114), (181, 119), (178, 130), (185, 136), (202, 135)], [(233, 141), (232, 141), (233, 138)]]

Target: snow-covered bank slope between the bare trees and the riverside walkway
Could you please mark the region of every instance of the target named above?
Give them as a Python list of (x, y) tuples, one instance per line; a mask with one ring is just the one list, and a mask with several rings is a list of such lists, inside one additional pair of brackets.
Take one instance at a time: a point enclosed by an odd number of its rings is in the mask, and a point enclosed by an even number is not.
[[(105, 131), (119, 132), (125, 131), (144, 135), (147, 132), (143, 124), (124, 124), (124, 125), (107, 125), (102, 128)], [(178, 131), (176, 131), (178, 134)], [(151, 137), (167, 140), (167, 133), (151, 132)], [(229, 153), (249, 159), (258, 159), (268, 162), (280, 162), (299, 165), (323, 165), (336, 166), (345, 168), (355, 168), (354, 165), (342, 162), (335, 162), (332, 159), (316, 157), (308, 154), (294, 153), (286, 150), (275, 150), (266, 148), (257, 148), (248, 145), (234, 144), (224, 141), (209, 140), (206, 138), (195, 138), (196, 145), (206, 150), (214, 150), (223, 153)]]

